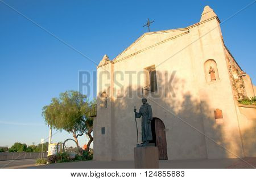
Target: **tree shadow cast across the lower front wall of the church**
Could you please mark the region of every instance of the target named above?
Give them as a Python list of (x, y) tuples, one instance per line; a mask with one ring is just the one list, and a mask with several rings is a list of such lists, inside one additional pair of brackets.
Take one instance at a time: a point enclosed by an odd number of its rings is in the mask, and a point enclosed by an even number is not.
[[(213, 108), (207, 101), (200, 100), (197, 92), (185, 90), (186, 81), (175, 78), (172, 89), (158, 83), (159, 91), (163, 96), (147, 92), (144, 97), (152, 106), (153, 117), (157, 117), (166, 126), (167, 153), (169, 160), (197, 159), (197, 158), (236, 158), (242, 156), (241, 142), (236, 137), (237, 129), (229, 129), (229, 136), (234, 136), (234, 141), (229, 141), (226, 136), (225, 122), (218, 124), (214, 118)], [(189, 89), (189, 88), (187, 88)], [(110, 92), (109, 89), (106, 92)], [(142, 87), (127, 86), (117, 89), (116, 95), (108, 95), (108, 107), (100, 107), (100, 95), (97, 105), (97, 135), (94, 138), (94, 152), (101, 156), (111, 156), (111, 160), (133, 160), (134, 147), (137, 144), (137, 133), (134, 118), (134, 106), (141, 106)], [(175, 95), (174, 95), (175, 93)], [(207, 98), (206, 98), (207, 99)], [(111, 113), (111, 130), (106, 129), (106, 134), (101, 134), (101, 127), (105, 127), (104, 113)], [(141, 120), (137, 119), (139, 140), (141, 140)], [(104, 140), (111, 137), (111, 152), (104, 152), (102, 144), (97, 144), (97, 138)], [(250, 135), (249, 135), (250, 136)], [(234, 148), (236, 147), (236, 148)], [(254, 148), (251, 146), (251, 148)], [(251, 149), (251, 151), (254, 151)]]

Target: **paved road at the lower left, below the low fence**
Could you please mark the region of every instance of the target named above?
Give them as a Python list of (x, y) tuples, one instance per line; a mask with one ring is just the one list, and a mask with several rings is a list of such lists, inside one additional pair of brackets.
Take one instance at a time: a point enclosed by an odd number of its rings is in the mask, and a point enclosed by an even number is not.
[(0, 161), (0, 168), (27, 168), (29, 166), (35, 166), (36, 158), (26, 160), (7, 160)]

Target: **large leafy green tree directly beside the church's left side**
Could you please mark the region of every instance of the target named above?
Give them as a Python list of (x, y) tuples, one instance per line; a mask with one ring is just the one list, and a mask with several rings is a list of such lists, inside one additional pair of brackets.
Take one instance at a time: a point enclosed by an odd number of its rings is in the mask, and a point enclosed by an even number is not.
[(92, 143), (93, 118), (87, 115), (92, 104), (93, 102), (80, 92), (66, 91), (60, 93), (59, 98), (52, 98), (51, 104), (43, 107), (42, 115), (49, 126), (72, 133), (77, 144), (78, 136), (84, 133), (89, 136), (89, 143)]

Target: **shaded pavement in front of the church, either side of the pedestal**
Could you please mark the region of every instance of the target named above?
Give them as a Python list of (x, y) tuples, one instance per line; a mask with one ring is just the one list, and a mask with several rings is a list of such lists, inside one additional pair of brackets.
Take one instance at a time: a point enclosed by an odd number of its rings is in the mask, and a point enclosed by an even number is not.
[[(237, 158), (229, 159), (200, 159), (200, 160), (160, 160), (160, 168), (177, 169), (177, 168), (227, 168), (233, 164), (242, 162)], [(32, 166), (29, 168), (82, 168), (82, 169), (126, 169), (134, 168), (134, 161), (79, 161), (65, 162), (57, 164), (48, 164), (42, 166)], [(251, 167), (253, 168), (253, 167)]]

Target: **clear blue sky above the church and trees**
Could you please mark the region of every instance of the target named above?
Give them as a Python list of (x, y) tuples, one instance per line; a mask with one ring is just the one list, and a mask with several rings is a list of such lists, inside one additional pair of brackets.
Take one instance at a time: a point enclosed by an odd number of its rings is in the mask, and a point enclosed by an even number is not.
[[(96, 71), (96, 65), (1, 1), (0, 146), (38, 144), (48, 136), (42, 107), (61, 92), (79, 90), (78, 72)], [(142, 27), (147, 18), (155, 20), (151, 31), (183, 28), (199, 22), (209, 5), (222, 22), (252, 0), (4, 2), (98, 63), (104, 54), (113, 59), (147, 32)], [(254, 84), (255, 4), (221, 25), (226, 46)], [(53, 142), (67, 138), (72, 136), (59, 132)], [(85, 137), (79, 141), (84, 144)]]

